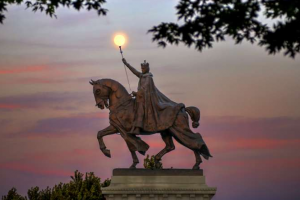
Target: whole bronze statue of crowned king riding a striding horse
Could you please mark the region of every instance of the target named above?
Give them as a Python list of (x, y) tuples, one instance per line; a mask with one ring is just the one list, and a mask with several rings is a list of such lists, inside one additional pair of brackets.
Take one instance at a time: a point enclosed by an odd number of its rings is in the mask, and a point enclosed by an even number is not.
[(193, 128), (199, 126), (200, 110), (175, 103), (161, 93), (154, 85), (153, 75), (146, 61), (141, 64), (142, 72), (133, 68), (125, 59), (122, 61), (140, 79), (137, 92), (129, 94), (123, 85), (112, 79), (90, 81), (93, 85), (96, 106), (110, 110), (110, 126), (97, 134), (101, 151), (107, 157), (111, 157), (103, 137), (120, 133), (132, 155), (133, 164), (130, 168), (136, 168), (139, 163), (136, 151), (145, 155), (149, 149), (149, 145), (138, 135), (160, 133), (166, 146), (155, 155), (156, 163), (159, 163), (166, 153), (175, 149), (172, 139), (175, 138), (177, 142), (194, 152), (196, 163), (193, 169), (199, 169), (202, 162), (200, 155), (207, 160), (212, 157), (202, 136), (192, 132), (189, 127), (188, 115), (193, 121)]

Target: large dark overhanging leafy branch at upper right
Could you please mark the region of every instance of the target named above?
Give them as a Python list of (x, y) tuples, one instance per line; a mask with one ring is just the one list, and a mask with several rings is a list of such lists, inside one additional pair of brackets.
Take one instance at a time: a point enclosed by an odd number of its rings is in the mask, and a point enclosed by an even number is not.
[[(272, 27), (260, 21), (262, 8), (264, 17), (274, 20)], [(269, 54), (283, 50), (294, 58), (300, 52), (299, 0), (180, 0), (176, 9), (179, 23), (149, 30), (159, 46), (182, 43), (202, 51), (229, 36), (237, 44), (257, 42)]]

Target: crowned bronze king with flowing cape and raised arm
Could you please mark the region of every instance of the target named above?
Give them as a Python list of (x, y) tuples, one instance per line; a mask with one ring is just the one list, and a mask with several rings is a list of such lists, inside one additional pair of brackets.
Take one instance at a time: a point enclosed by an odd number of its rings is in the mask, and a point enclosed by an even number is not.
[(139, 135), (141, 131), (158, 132), (172, 126), (176, 114), (184, 108), (184, 104), (171, 101), (155, 87), (153, 75), (146, 60), (141, 63), (142, 72), (137, 71), (124, 58), (122, 61), (140, 79), (137, 92), (132, 92), (132, 95), (136, 97), (136, 106), (130, 133)]

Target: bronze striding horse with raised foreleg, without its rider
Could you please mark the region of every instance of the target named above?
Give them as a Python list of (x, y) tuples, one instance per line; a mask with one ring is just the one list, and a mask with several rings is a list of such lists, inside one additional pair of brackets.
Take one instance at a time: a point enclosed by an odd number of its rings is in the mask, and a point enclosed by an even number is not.
[[(136, 165), (139, 163), (136, 151), (145, 155), (149, 146), (142, 141), (140, 137), (137, 137), (137, 135), (129, 133), (134, 121), (135, 99), (131, 97), (123, 85), (115, 80), (91, 80), (90, 84), (93, 85), (96, 106), (100, 109), (108, 108), (110, 110), (110, 126), (100, 130), (97, 134), (100, 150), (107, 157), (111, 157), (110, 150), (106, 148), (103, 137), (120, 133), (132, 155), (133, 164), (130, 168), (136, 168)], [(168, 129), (156, 132), (141, 131), (141, 135), (160, 133), (166, 144), (165, 148), (155, 155), (156, 163), (158, 163), (166, 153), (175, 149), (172, 138), (175, 138), (178, 143), (194, 152), (196, 163), (193, 166), (193, 169), (200, 169), (199, 165), (202, 162), (200, 155), (207, 160), (209, 157), (212, 157), (209, 153), (208, 147), (202, 139), (202, 136), (199, 133), (191, 131), (187, 113), (193, 121), (193, 128), (197, 128), (200, 120), (199, 109), (196, 107), (185, 107), (178, 112), (173, 125)]]

